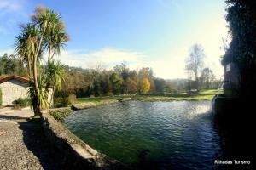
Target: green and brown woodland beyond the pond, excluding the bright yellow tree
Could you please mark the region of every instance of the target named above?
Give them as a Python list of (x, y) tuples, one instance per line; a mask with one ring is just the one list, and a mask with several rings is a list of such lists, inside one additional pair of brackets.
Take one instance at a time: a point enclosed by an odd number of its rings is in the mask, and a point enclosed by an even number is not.
[[(120, 69), (122, 68), (122, 69)], [(125, 68), (125, 69), (124, 69)], [(179, 94), (195, 89), (195, 81), (188, 79), (164, 80), (153, 76), (150, 68), (141, 68), (138, 71), (127, 69), (124, 64), (114, 66), (111, 70), (82, 69), (64, 66), (67, 78), (62, 82), (62, 89), (55, 91), (55, 98), (75, 94), (78, 98), (90, 96), (112, 96), (119, 94), (136, 94), (140, 92), (143, 78), (150, 82), (150, 93)], [(125, 73), (124, 73), (125, 72)], [(122, 76), (123, 73), (123, 76)], [(125, 77), (125, 79), (123, 78)], [(218, 80), (210, 80), (210, 88), (218, 88)], [(203, 86), (202, 88), (206, 88)]]

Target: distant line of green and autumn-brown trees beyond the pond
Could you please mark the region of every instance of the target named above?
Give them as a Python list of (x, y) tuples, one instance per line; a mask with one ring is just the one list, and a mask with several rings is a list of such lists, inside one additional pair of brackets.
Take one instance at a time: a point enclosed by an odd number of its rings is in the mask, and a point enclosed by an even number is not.
[[(112, 69), (105, 69), (101, 65), (93, 69), (83, 69), (53, 61), (53, 64), (49, 64), (49, 66), (41, 65), (39, 70), (43, 73), (48, 71), (51, 77), (59, 77), (57, 78), (59, 80), (55, 82), (55, 85), (58, 85), (55, 97), (65, 97), (69, 94), (75, 94), (77, 97), (136, 93), (179, 94), (196, 89), (194, 80), (165, 80), (154, 77), (154, 71), (151, 68), (143, 67), (131, 70), (123, 63)], [(26, 76), (26, 65), (23, 65), (20, 58), (15, 55), (3, 54), (2, 57), (0, 56), (0, 74)], [(54, 74), (58, 76), (54, 76)], [(209, 68), (201, 71), (198, 80), (201, 89), (218, 88), (220, 84)]]

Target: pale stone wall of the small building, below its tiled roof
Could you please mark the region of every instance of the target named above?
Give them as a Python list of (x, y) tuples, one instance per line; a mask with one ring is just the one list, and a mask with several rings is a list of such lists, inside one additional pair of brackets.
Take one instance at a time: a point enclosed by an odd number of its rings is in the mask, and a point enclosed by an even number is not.
[(15, 99), (28, 97), (28, 83), (15, 79), (0, 84), (2, 90), (2, 105), (13, 105)]

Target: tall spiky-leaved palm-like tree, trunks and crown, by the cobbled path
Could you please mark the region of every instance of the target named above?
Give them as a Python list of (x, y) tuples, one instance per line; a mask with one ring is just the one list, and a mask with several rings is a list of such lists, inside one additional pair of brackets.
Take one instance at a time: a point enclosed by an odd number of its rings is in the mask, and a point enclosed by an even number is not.
[[(41, 116), (40, 108), (42, 103), (40, 99), (44, 99), (40, 96), (42, 94), (38, 86), (38, 78), (43, 77), (39, 72), (40, 59), (47, 48), (54, 47), (55, 50), (58, 51), (60, 49), (58, 47), (62, 46), (62, 44), (68, 40), (60, 40), (64, 31), (64, 28), (61, 27), (61, 23), (59, 14), (56, 14), (49, 8), (38, 7), (36, 13), (32, 15), (32, 22), (28, 23), (26, 26), (22, 26), (21, 33), (16, 38), (15, 49), (20, 55), (20, 59), (23, 59), (28, 68), (28, 75), (32, 86), (32, 88), (30, 88), (30, 94), (35, 116)], [(55, 31), (55, 28), (57, 30), (61, 29), (61, 31)], [(58, 36), (55, 34), (58, 34)], [(64, 34), (66, 35), (65, 31)], [(49, 50), (49, 56), (50, 54), (51, 52)], [(53, 53), (52, 56), (54, 56), (54, 54), (55, 53)], [(42, 92), (46, 93), (46, 88), (42, 90)]]

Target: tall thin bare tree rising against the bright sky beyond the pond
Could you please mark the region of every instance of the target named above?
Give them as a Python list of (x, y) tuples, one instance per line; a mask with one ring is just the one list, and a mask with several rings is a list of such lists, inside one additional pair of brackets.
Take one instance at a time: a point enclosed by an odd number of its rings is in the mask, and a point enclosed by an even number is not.
[(190, 49), (188, 58), (186, 59), (186, 70), (192, 72), (195, 76), (195, 87), (199, 90), (199, 72), (203, 66), (205, 58), (204, 49), (201, 45), (195, 44)]

